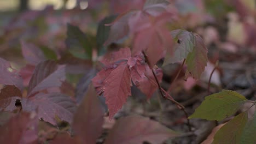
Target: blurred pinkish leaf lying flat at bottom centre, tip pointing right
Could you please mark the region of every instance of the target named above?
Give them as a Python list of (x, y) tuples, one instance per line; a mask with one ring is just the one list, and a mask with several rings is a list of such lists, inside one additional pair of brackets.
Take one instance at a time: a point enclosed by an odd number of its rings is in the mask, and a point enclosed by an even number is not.
[(141, 116), (128, 116), (120, 118), (110, 130), (106, 144), (112, 143), (162, 143), (169, 137), (179, 134), (164, 127), (158, 122)]

